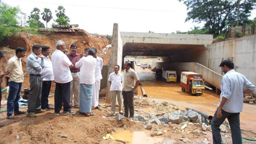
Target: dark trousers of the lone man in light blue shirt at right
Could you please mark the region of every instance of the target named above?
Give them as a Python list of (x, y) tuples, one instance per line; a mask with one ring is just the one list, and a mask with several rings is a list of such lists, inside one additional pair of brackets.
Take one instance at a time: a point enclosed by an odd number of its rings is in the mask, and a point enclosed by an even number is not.
[(238, 113), (230, 113), (226, 112), (223, 109), (221, 110), (222, 117), (217, 118), (218, 108), (215, 111), (215, 114), (211, 121), (211, 130), (212, 130), (212, 139), (213, 144), (222, 144), (223, 141), (221, 139), (220, 133), (220, 125), (224, 122), (226, 118), (228, 118), (228, 122), (230, 125), (231, 135), (232, 135), (232, 143), (233, 144), (242, 144), (242, 135), (240, 130), (240, 112)]

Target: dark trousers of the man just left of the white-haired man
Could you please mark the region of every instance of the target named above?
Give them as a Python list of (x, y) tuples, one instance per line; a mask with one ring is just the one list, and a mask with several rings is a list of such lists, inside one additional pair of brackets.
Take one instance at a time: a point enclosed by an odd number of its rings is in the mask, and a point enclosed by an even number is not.
[(41, 109), (50, 107), (48, 104), (48, 96), (51, 90), (51, 80), (45, 80), (42, 84)]

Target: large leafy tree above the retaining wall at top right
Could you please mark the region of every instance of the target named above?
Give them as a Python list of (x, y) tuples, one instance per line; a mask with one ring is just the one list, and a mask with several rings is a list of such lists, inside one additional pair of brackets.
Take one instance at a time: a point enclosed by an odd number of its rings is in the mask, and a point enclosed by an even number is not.
[[(187, 6), (187, 18), (185, 22), (193, 19), (193, 22), (206, 22), (204, 28), (209, 29), (209, 34), (218, 35), (226, 24), (234, 25), (237, 20), (238, 0), (178, 0), (184, 1)], [(248, 24), (251, 10), (256, 6), (256, 0), (240, 0), (239, 23)], [(228, 23), (225, 23), (226, 20)]]

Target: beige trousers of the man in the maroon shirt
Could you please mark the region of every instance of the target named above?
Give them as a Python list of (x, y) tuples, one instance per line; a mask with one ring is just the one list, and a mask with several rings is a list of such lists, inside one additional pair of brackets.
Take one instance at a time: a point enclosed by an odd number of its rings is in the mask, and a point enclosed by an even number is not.
[(70, 81), (70, 99), (69, 104), (72, 105), (72, 99), (74, 95), (74, 105), (79, 104), (80, 100), (80, 72), (71, 73), (73, 80)]

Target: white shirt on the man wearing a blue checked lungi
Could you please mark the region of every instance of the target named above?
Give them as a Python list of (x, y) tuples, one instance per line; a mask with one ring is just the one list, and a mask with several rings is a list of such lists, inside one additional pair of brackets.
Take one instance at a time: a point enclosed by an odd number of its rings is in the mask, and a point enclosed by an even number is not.
[(93, 85), (95, 83), (96, 58), (91, 55), (82, 57), (75, 67), (80, 67), (80, 84)]

